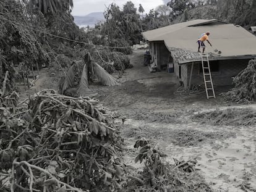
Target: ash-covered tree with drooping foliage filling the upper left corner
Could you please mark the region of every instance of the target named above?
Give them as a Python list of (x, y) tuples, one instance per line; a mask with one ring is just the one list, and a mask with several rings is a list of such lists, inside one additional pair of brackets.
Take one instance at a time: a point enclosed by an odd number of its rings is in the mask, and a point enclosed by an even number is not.
[(8, 71), (7, 85), (12, 89), (15, 78), (20, 77), (15, 67), (25, 71), (32, 64), (46, 64), (48, 57), (40, 38), (33, 30), (25, 4), (15, 0), (2, 0), (0, 12), (0, 78), (1, 73)]

